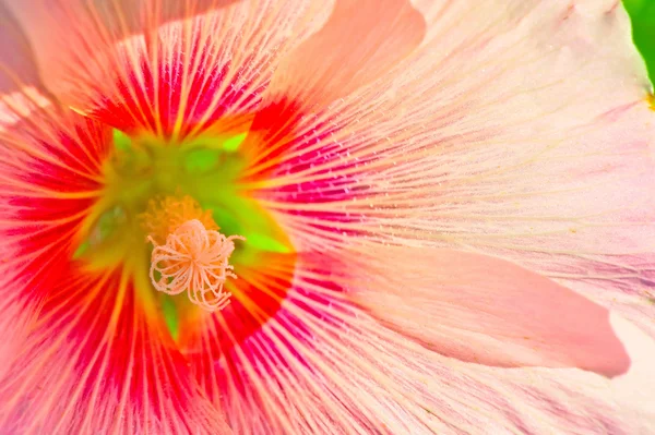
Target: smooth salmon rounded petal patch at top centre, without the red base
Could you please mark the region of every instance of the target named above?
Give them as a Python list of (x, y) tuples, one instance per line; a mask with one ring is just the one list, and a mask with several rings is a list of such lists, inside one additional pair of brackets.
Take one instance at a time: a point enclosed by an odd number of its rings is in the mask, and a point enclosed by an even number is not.
[(282, 61), (269, 93), (329, 104), (395, 67), (425, 31), (407, 0), (336, 0), (324, 27)]

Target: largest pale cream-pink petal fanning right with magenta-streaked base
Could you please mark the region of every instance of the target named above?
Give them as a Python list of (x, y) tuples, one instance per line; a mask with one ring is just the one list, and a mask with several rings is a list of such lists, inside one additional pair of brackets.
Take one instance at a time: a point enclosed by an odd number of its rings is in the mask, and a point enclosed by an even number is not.
[(488, 254), (655, 337), (655, 117), (620, 3), (417, 8), (420, 48), (303, 117), (262, 201), (299, 249)]

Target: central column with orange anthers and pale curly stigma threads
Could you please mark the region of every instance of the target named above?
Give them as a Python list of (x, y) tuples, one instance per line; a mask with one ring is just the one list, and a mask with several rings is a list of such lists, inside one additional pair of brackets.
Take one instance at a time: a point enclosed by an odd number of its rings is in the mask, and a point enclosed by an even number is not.
[(192, 303), (212, 312), (229, 304), (231, 294), (224, 286), (237, 278), (229, 257), (235, 240), (245, 238), (222, 234), (211, 212), (190, 196), (151, 201), (141, 221), (153, 244), (150, 278), (157, 291), (186, 291)]

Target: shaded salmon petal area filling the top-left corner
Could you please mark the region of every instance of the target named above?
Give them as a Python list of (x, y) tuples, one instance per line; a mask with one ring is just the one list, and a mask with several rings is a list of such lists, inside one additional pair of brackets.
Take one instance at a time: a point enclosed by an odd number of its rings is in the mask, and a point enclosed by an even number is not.
[(61, 83), (67, 81), (67, 74), (81, 77), (94, 71), (94, 63), (99, 62), (116, 41), (234, 1), (7, 0), (0, 7), (0, 33), (11, 36), (1, 40), (2, 52), (11, 52), (12, 57), (2, 57), (2, 60), (12, 62), (7, 67), (14, 74), (27, 72), (20, 75), (26, 85), (43, 80), (51, 90), (61, 93), (68, 89)]

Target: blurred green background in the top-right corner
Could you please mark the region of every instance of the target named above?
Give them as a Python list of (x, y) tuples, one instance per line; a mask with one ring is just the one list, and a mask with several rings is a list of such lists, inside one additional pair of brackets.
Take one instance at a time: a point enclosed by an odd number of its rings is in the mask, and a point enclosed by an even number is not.
[(655, 0), (623, 0), (632, 20), (634, 44), (646, 60), (651, 83), (655, 83)]

